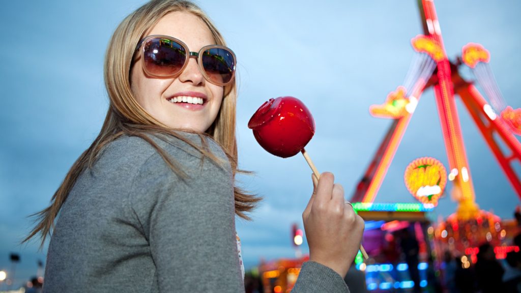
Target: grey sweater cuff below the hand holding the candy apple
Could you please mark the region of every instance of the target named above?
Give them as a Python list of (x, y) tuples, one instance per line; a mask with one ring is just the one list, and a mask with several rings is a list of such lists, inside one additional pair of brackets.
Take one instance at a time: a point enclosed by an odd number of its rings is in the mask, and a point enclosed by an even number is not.
[(344, 279), (331, 268), (313, 261), (302, 265), (292, 293), (349, 293)]

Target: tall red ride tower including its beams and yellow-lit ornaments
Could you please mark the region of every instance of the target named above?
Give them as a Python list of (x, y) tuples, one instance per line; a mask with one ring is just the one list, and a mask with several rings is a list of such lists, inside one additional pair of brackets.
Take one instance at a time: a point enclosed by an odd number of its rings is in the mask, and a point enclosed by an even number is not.
[[(475, 202), (454, 94), (460, 96), (519, 198), (521, 180), (513, 164), (516, 161), (521, 163), (521, 144), (514, 136), (514, 133), (521, 134), (521, 109), (514, 110), (505, 105), (488, 67), (489, 54), (485, 48), (478, 44), (468, 44), (463, 47), (461, 58), (451, 62), (445, 53), (433, 0), (419, 0), (418, 5), (424, 35), (418, 35), (411, 41), (418, 54), (403, 86), (391, 92), (383, 105), (370, 108), (373, 116), (392, 118), (393, 123), (359, 181), (351, 202), (374, 202), (421, 94), (432, 88), (449, 159), (449, 180), (453, 182), (457, 193), (455, 216), (465, 221), (478, 217), (482, 212)], [(477, 82), (485, 90), (492, 105), (479, 93), (472, 81), (465, 80), (459, 74), (458, 67), (463, 64), (473, 68)], [(501, 144), (503, 148), (500, 148)]]

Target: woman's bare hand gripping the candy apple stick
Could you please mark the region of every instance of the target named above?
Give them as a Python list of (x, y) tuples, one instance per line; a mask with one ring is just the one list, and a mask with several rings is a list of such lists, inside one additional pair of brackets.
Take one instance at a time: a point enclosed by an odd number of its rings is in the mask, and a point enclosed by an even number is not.
[(309, 245), (309, 260), (330, 267), (345, 277), (360, 247), (364, 220), (344, 200), (344, 189), (325, 172), (313, 177), (313, 194), (302, 213)]

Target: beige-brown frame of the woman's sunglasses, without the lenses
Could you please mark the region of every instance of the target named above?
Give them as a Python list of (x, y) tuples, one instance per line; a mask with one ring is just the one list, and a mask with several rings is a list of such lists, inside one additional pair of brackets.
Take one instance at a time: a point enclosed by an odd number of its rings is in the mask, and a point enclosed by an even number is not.
[[(152, 72), (149, 72), (146, 69), (146, 66), (145, 66), (145, 46), (143, 46), (143, 44), (145, 44), (148, 40), (151, 40), (151, 39), (166, 39), (166, 40), (169, 40), (171, 42), (178, 43), (179, 45), (181, 45), (184, 48), (185, 52), (188, 52), (187, 57), (184, 60), (184, 64), (183, 64), (183, 66), (181, 67), (181, 69), (178, 72), (176, 72), (173, 75), (159, 76), (159, 75), (152, 74)], [(140, 50), (140, 48), (141, 48), (141, 50)], [(232, 72), (230, 81), (228, 81), (226, 83), (216, 82), (216, 81), (213, 81), (212, 79), (210, 79), (209, 76), (206, 74), (206, 70), (203, 67), (203, 59), (202, 59), (203, 58), (203, 52), (206, 51), (206, 50), (209, 50), (209, 49), (213, 49), (213, 48), (226, 50), (226, 51), (230, 52), (231, 55), (233, 56), (233, 68), (232, 68), (233, 72)], [(183, 72), (184, 68), (187, 67), (188, 62), (189, 62), (191, 57), (196, 57), (197, 58), (196, 59), (197, 60), (197, 66), (199, 67), (199, 71), (201, 72), (203, 77), (207, 81), (209, 81), (209, 82), (211, 82), (213, 84), (216, 84), (217, 86), (222, 86), (222, 87), (228, 86), (230, 83), (233, 82), (233, 79), (235, 78), (235, 68), (237, 67), (237, 58), (235, 57), (235, 53), (233, 53), (233, 51), (230, 48), (226, 47), (226, 46), (208, 45), (208, 46), (202, 47), (201, 50), (199, 50), (199, 52), (192, 52), (192, 51), (190, 51), (188, 49), (187, 44), (183, 43), (179, 39), (173, 38), (172, 36), (168, 36), (168, 35), (153, 34), (153, 35), (145, 36), (145, 38), (143, 38), (143, 39), (141, 39), (141, 41), (139, 41), (138, 45), (135, 47), (134, 54), (136, 52), (138, 52), (138, 51), (140, 51), (139, 57), (141, 57), (141, 59), (143, 59), (143, 70), (145, 71), (145, 73), (147, 75), (149, 75), (151, 77), (154, 77), (154, 78), (172, 78), (172, 77), (179, 76), (181, 74), (181, 72)]]

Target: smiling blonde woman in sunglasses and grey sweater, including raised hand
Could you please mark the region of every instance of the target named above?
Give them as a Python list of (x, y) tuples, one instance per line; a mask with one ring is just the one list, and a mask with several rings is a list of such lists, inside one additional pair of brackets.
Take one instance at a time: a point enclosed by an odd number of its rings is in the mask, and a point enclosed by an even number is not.
[[(194, 4), (156, 0), (116, 29), (110, 107), (26, 239), (53, 229), (45, 292), (242, 292), (234, 216), (235, 56)], [(316, 180), (315, 180), (316, 181)], [(363, 221), (325, 173), (303, 213), (310, 261), (293, 292), (348, 292)], [(344, 243), (344, 244), (340, 244)]]

